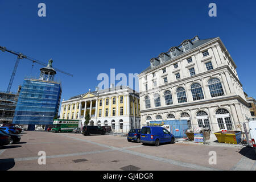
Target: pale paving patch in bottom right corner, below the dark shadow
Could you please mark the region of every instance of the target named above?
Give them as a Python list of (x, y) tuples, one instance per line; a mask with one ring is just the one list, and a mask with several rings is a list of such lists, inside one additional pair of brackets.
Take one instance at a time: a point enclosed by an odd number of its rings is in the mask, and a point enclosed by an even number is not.
[(255, 171), (256, 170), (256, 162), (255, 162), (254, 151), (249, 150), (245, 154), (245, 156), (243, 156), (242, 159), (230, 170), (231, 171), (250, 171), (250, 170)]

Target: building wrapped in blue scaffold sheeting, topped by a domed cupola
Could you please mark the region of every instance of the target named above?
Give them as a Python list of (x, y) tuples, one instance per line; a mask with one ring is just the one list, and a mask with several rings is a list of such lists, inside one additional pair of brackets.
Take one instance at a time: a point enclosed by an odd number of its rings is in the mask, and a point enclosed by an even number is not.
[(39, 78), (24, 79), (14, 113), (13, 124), (28, 125), (27, 130), (52, 125), (59, 110), (61, 85), (54, 81), (56, 71), (52, 68), (52, 60), (40, 71)]

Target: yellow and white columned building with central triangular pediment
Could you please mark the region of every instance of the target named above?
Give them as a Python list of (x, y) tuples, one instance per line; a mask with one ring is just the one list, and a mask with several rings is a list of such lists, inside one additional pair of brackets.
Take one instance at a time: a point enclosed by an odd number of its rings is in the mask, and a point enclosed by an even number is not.
[(114, 132), (127, 133), (141, 127), (139, 94), (128, 86), (87, 92), (61, 104), (60, 119), (81, 119), (90, 114), (89, 125), (111, 126)]

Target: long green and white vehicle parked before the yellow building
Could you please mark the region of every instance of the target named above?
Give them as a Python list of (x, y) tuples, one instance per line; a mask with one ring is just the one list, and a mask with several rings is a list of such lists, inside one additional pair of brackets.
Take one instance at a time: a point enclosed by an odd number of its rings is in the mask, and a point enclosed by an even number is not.
[(81, 120), (55, 119), (52, 132), (72, 132), (73, 129), (81, 128)]

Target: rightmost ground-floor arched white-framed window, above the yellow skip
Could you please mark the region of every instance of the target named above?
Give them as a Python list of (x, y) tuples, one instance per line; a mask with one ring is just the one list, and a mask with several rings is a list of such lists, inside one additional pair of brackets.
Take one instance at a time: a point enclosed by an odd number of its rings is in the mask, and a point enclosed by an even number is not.
[(233, 130), (233, 125), (228, 110), (221, 108), (216, 110), (215, 114), (220, 130)]

